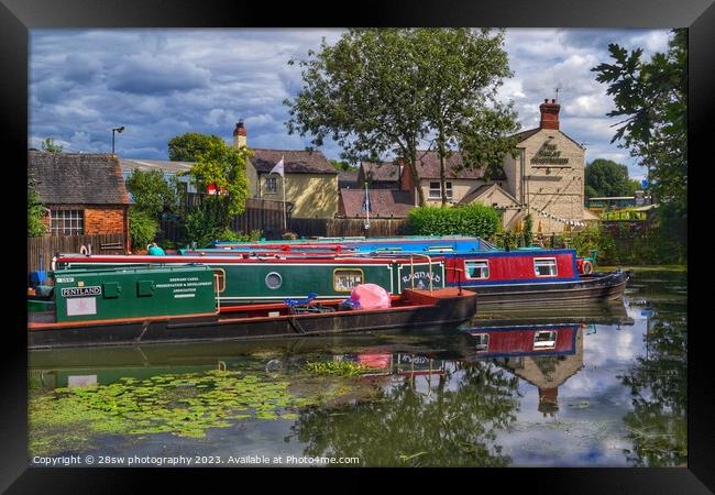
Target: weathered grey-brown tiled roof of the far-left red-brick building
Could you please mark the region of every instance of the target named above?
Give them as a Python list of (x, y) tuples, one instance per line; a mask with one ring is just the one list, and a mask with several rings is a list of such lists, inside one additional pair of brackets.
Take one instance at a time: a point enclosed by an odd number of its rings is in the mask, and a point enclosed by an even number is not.
[(28, 174), (45, 205), (129, 204), (116, 155), (29, 151)]

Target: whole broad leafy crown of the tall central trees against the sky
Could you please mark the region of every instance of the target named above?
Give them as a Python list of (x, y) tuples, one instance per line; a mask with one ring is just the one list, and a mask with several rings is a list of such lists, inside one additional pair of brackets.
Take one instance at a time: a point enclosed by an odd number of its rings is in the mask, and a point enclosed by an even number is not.
[(494, 148), (477, 134), (514, 128), (505, 125), (509, 109), (495, 100), (510, 74), (502, 45), (502, 32), (469, 29), (353, 29), (334, 45), (323, 40), (298, 62), (305, 86), (285, 101), (288, 132), (310, 135), (315, 146), (332, 138), (353, 163), (399, 156), (415, 184), (426, 140), (430, 147), (439, 142), (442, 157), (462, 145), (471, 151), (466, 166), (482, 165)]

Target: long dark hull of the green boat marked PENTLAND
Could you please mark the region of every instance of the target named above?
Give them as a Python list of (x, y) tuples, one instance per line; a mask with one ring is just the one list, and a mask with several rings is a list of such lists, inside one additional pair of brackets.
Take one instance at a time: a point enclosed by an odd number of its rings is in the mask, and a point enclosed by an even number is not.
[[(202, 340), (310, 337), (375, 330), (454, 328), (476, 312), (476, 295), (458, 289), (405, 290), (408, 305), (382, 310), (248, 317), (167, 317), (29, 328), (30, 349)], [(248, 310), (246, 310), (248, 311)]]

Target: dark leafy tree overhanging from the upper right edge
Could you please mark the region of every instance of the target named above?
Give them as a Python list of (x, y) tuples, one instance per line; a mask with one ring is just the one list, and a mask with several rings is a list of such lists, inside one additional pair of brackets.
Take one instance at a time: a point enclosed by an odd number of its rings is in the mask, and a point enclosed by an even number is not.
[[(688, 207), (688, 31), (673, 30), (667, 53), (641, 59), (608, 45), (613, 64), (592, 70), (608, 84), (616, 109), (608, 117), (623, 118), (612, 142), (630, 150), (648, 168), (649, 187), (662, 207), (684, 226)], [(683, 232), (684, 233), (684, 232)]]

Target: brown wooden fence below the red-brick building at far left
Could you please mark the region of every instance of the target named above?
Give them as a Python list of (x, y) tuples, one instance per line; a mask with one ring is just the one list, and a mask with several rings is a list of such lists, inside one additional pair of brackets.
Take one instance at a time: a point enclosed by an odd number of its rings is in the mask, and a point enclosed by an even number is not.
[(82, 245), (91, 246), (94, 254), (124, 254), (127, 238), (123, 233), (28, 238), (28, 272), (51, 270), (55, 253), (79, 253)]

